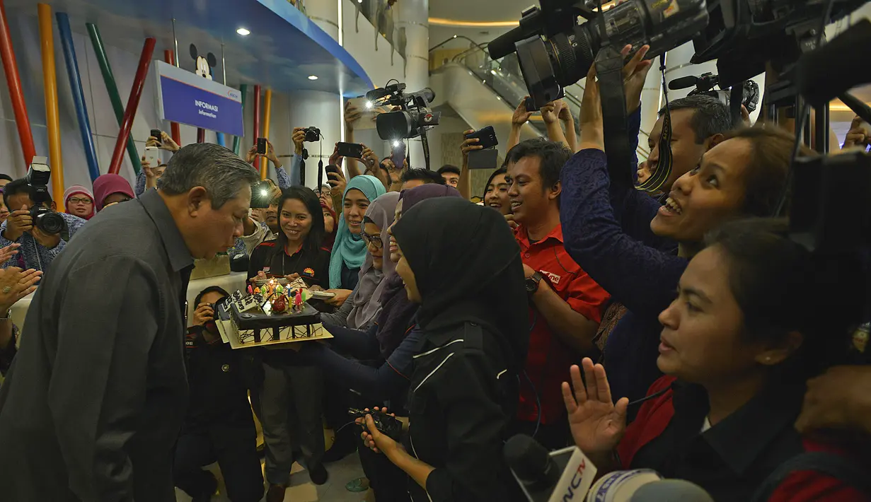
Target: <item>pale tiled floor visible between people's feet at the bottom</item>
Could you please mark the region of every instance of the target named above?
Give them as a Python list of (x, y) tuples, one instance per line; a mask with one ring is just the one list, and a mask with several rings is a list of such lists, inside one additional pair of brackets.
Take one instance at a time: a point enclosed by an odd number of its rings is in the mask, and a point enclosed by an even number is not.
[[(218, 466), (212, 465), (210, 467), (218, 475)], [(354, 493), (345, 489), (345, 484), (348, 481), (363, 475), (360, 459), (355, 453), (334, 464), (327, 464), (327, 472), (329, 472), (327, 483), (318, 486), (308, 479), (308, 472), (305, 469), (299, 464), (294, 464), (294, 468), (290, 471), (290, 486), (285, 492), (285, 502), (361, 502), (366, 500), (365, 492)], [(219, 487), (219, 492), (222, 492), (221, 488), (223, 486)], [(175, 493), (177, 502), (191, 501), (191, 498), (178, 488)], [(229, 502), (229, 499), (215, 495), (212, 502)]]

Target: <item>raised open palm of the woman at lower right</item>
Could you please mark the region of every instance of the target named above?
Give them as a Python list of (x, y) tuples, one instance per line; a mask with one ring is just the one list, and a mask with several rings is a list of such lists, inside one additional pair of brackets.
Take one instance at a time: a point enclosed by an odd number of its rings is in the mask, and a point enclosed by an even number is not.
[(593, 365), (590, 358), (584, 358), (581, 365), (584, 366), (586, 385), (577, 365), (572, 365), (570, 370), (574, 394), (568, 382), (563, 382), (571, 435), (577, 447), (587, 455), (611, 452), (623, 438), (629, 399), (621, 398), (614, 405), (604, 366)]

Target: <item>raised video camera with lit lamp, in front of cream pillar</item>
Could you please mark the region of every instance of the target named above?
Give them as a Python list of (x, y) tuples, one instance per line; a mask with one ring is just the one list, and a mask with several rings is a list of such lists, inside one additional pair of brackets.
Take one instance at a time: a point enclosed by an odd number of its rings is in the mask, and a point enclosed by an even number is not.
[(400, 110), (381, 113), (375, 118), (375, 128), (378, 136), (388, 141), (421, 137), (423, 156), (429, 169), (429, 143), (426, 131), (438, 125), (441, 111), (433, 111), (429, 103), (436, 98), (436, 93), (429, 87), (417, 92), (405, 93), (406, 85), (397, 82), (380, 89), (370, 90), (366, 99), (373, 106), (398, 106)]

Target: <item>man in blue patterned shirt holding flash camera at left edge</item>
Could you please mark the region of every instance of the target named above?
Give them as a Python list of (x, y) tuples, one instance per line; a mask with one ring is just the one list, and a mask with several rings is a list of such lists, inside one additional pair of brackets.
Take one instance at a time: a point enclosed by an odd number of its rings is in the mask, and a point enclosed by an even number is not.
[[(21, 244), (18, 254), (3, 263), (2, 268), (16, 266), (24, 270), (47, 271), (54, 258), (64, 251), (66, 243), (86, 222), (71, 214), (60, 213), (64, 218), (64, 230), (57, 234), (47, 234), (34, 226), (29, 208), (33, 206), (33, 188), (25, 178), (17, 179), (3, 187), (3, 201), (10, 215), (0, 224), (0, 247)], [(55, 209), (55, 203), (46, 207)]]

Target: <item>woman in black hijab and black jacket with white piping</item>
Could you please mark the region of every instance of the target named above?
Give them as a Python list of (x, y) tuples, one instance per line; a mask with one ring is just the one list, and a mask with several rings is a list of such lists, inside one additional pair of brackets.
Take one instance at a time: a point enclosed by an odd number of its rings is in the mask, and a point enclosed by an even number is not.
[(523, 264), (502, 215), (439, 198), (403, 212), (393, 235), (423, 336), (408, 393), (405, 447), (375, 429), (367, 445), (414, 483), (414, 501), (517, 499), (502, 446), (529, 342)]

